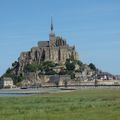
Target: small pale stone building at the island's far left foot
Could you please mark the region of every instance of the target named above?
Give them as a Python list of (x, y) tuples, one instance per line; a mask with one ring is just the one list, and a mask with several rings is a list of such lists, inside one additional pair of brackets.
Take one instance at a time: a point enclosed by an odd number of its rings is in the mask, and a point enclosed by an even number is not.
[(4, 77), (0, 80), (0, 88), (12, 88), (13, 80), (10, 77)]

